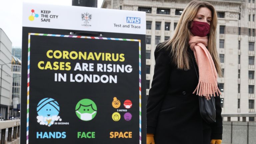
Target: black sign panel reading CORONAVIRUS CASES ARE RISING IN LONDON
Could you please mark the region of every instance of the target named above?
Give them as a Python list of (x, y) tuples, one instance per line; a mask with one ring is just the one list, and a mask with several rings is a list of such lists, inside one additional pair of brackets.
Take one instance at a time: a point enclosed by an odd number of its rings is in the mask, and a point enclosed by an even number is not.
[(23, 27), (21, 143), (145, 143), (145, 35), (69, 32)]

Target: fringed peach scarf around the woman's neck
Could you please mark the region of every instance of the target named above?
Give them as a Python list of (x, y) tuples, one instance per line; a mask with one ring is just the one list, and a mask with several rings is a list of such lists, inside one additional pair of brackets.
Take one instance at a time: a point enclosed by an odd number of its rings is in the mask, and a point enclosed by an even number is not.
[(194, 52), (199, 69), (199, 83), (193, 94), (196, 92), (197, 95), (204, 96), (208, 100), (211, 99), (210, 96), (212, 95), (215, 97), (215, 92), (217, 92), (217, 96), (219, 96), (221, 92), (217, 85), (217, 71), (211, 54), (206, 48), (207, 45), (208, 36), (199, 37), (190, 35), (189, 46)]

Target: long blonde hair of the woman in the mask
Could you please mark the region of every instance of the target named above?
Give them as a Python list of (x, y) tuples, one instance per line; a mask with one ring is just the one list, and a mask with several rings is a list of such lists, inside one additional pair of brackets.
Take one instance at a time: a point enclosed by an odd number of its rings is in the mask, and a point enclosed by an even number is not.
[(163, 42), (161, 47), (171, 48), (170, 55), (173, 57), (173, 62), (178, 69), (190, 69), (189, 67), (189, 25), (201, 7), (206, 7), (211, 10), (212, 20), (210, 22), (210, 34), (208, 40), (208, 51), (210, 52), (216, 71), (222, 77), (222, 69), (220, 66), (219, 56), (216, 48), (216, 27), (217, 27), (217, 13), (208, 2), (193, 0), (185, 7), (181, 17), (177, 23), (174, 35), (170, 40)]

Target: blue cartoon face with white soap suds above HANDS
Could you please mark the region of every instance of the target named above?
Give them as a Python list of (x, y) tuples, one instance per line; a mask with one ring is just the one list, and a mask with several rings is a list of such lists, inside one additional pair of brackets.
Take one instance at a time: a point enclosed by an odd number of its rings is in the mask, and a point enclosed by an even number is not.
[(54, 121), (61, 121), (59, 115), (60, 107), (53, 98), (44, 98), (37, 104), (37, 122), (41, 125), (51, 126)]

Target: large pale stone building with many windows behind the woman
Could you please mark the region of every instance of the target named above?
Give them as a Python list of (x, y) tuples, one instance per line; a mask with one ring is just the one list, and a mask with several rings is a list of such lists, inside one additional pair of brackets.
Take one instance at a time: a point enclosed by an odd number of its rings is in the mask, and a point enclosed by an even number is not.
[[(255, 9), (254, 0), (206, 0), (218, 13), (217, 50), (223, 77), (218, 78), (222, 113), (255, 112)], [(172, 37), (190, 0), (104, 0), (102, 8), (146, 12), (146, 88), (154, 74), (154, 50)], [(225, 120), (225, 119), (224, 119)], [(231, 118), (242, 120), (242, 118)], [(254, 117), (247, 121), (255, 121)]]

